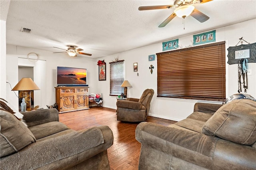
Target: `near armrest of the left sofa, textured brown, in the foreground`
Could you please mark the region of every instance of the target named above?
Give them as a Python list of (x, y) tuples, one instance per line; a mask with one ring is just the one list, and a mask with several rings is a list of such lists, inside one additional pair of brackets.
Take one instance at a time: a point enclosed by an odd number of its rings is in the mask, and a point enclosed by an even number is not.
[(72, 131), (1, 158), (0, 169), (69, 169), (107, 150), (113, 140), (112, 130), (107, 126)]

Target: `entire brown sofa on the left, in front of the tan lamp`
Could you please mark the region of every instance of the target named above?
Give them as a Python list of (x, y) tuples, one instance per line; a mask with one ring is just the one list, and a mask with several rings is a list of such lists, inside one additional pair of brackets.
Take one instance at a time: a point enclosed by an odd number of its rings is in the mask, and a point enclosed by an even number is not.
[(1, 170), (110, 169), (109, 127), (72, 130), (59, 122), (56, 109), (22, 112), (27, 127), (11, 113), (0, 113)]

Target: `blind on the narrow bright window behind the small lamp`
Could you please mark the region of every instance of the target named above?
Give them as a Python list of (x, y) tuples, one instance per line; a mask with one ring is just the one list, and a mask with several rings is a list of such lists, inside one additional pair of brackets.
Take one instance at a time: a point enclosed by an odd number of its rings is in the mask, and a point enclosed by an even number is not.
[(110, 64), (110, 95), (117, 96), (124, 93), (124, 60), (111, 62)]

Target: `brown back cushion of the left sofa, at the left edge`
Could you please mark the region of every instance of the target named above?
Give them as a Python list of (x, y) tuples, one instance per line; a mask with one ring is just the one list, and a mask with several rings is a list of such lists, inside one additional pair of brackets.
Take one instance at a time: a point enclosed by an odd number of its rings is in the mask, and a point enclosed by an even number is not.
[(0, 157), (18, 152), (36, 142), (36, 138), (21, 121), (6, 111), (0, 111)]

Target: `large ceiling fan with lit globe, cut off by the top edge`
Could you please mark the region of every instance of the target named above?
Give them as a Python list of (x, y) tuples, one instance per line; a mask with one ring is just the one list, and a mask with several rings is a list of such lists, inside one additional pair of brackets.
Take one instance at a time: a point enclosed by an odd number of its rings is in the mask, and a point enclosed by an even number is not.
[(174, 12), (158, 27), (166, 26), (175, 16), (186, 18), (191, 15), (199, 22), (205, 22), (209, 19), (208, 16), (197, 10), (193, 5), (202, 4), (212, 0), (175, 0), (174, 5), (161, 5), (161, 6), (140, 6), (139, 10), (159, 10), (175, 8)]

